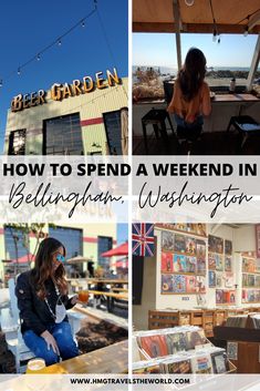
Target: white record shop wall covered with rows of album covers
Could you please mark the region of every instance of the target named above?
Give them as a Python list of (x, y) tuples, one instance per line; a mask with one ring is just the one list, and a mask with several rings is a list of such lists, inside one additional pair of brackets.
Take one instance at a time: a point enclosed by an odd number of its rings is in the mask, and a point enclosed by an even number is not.
[(260, 307), (257, 227), (156, 225), (155, 254), (144, 258), (141, 305), (133, 309), (136, 329), (148, 328), (149, 310)]

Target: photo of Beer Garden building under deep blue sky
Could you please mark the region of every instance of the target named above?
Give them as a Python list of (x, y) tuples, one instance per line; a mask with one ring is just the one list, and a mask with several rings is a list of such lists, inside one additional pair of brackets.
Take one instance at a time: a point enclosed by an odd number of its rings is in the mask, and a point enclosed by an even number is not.
[(14, 1), (1, 14), (0, 154), (126, 155), (128, 1)]

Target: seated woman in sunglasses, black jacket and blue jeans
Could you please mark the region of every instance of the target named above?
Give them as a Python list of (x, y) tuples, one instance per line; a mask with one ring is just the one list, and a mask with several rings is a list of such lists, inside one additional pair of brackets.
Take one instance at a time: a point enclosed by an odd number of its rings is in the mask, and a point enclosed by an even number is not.
[(67, 297), (64, 246), (54, 238), (41, 241), (35, 266), (18, 277), (15, 295), (27, 347), (46, 366), (79, 356), (66, 309), (77, 301)]

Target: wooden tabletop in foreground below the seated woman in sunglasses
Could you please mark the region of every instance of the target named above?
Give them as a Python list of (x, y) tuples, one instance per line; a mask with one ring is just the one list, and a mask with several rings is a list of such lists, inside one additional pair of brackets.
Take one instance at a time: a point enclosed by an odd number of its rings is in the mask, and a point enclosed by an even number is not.
[(45, 373), (127, 373), (128, 340), (46, 367)]

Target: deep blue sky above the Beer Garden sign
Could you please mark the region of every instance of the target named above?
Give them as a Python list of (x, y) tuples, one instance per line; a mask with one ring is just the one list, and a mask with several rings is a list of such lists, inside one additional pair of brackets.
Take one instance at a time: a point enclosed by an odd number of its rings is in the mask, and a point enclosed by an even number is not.
[(9, 80), (15, 71), (42, 48), (62, 35), (93, 9), (93, 0), (25, 0), (1, 1), (0, 16), (0, 153), (4, 135), (7, 110), (18, 93), (46, 90), (54, 82), (71, 82), (94, 75), (107, 68), (117, 68), (119, 76), (128, 72), (128, 1), (97, 0), (98, 12), (110, 43), (102, 32), (96, 14), (64, 38), (40, 61), (29, 64)]

